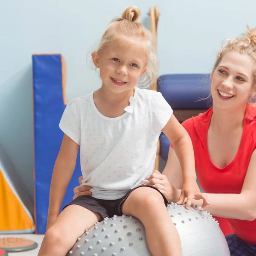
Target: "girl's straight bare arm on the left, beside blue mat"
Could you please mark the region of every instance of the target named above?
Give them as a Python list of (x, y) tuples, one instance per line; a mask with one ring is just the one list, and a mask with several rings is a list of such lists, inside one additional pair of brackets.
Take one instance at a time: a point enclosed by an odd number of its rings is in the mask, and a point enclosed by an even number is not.
[(53, 224), (61, 208), (61, 204), (73, 175), (79, 145), (64, 134), (58, 157), (52, 172), (49, 196), (47, 229)]

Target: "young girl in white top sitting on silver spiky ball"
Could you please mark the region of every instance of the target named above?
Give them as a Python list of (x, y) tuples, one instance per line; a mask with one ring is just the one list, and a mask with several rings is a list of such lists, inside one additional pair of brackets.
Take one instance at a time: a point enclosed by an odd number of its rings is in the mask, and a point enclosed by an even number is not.
[[(140, 186), (154, 170), (157, 140), (172, 141), (183, 170), (181, 197), (207, 199), (196, 184), (192, 143), (160, 93), (139, 89), (141, 78), (156, 79), (157, 57), (151, 33), (128, 7), (105, 31), (92, 53), (102, 87), (72, 100), (61, 118), (64, 138), (54, 166), (47, 232), (39, 256), (65, 256), (77, 237), (96, 221), (133, 215), (145, 226), (153, 256), (181, 256), (180, 239), (159, 186)], [(92, 195), (72, 201), (58, 215), (80, 145), (83, 185)], [(74, 221), (76, 220), (76, 221)]]

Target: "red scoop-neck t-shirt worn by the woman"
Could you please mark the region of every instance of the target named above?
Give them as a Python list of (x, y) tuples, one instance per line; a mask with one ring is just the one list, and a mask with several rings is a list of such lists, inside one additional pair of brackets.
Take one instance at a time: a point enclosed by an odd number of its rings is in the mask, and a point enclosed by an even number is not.
[[(233, 161), (223, 169), (217, 168), (212, 163), (207, 147), (207, 132), (212, 112), (212, 108), (210, 108), (207, 112), (187, 119), (182, 123), (193, 143), (198, 180), (206, 193), (239, 194), (244, 183), (250, 157), (256, 148), (256, 107), (247, 107), (238, 152)], [(256, 244), (256, 220), (227, 219), (227, 221), (236, 236), (248, 244)]]

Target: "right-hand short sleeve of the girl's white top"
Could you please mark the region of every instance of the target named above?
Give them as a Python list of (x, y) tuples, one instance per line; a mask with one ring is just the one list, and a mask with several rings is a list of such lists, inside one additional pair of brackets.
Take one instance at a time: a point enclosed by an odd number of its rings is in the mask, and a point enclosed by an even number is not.
[(161, 132), (172, 116), (172, 108), (163, 98), (162, 93), (154, 92), (151, 97), (152, 127)]

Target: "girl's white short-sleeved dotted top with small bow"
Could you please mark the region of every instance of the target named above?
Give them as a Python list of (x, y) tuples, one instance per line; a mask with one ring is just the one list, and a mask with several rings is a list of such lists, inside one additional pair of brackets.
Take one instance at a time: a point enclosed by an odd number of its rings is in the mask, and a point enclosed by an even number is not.
[(138, 87), (125, 113), (116, 118), (97, 110), (93, 93), (70, 101), (59, 126), (80, 145), (82, 185), (91, 186), (95, 198), (113, 200), (145, 183), (171, 115), (161, 93)]

